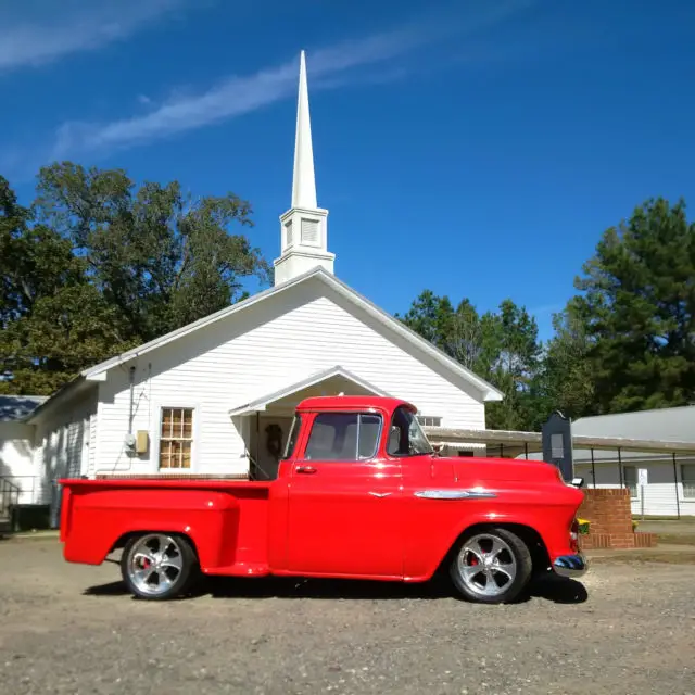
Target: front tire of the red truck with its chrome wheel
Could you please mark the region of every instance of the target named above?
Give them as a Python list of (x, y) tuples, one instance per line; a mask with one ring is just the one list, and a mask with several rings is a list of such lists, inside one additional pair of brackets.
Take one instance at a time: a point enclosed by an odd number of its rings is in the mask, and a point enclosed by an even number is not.
[(513, 602), (529, 584), (532, 570), (527, 544), (516, 533), (494, 527), (467, 533), (450, 564), (457, 591), (483, 604)]

